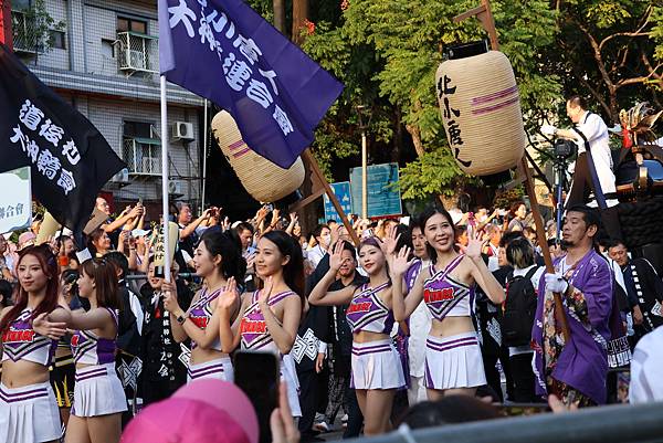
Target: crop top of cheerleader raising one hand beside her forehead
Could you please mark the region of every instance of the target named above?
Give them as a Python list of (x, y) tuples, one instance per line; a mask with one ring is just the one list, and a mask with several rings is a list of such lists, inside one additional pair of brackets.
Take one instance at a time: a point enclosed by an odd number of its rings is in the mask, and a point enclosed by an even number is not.
[(367, 331), (376, 334), (389, 334), (393, 327), (393, 312), (389, 309), (378, 293), (391, 286), (391, 282), (382, 283), (377, 287), (369, 287), (368, 283), (361, 285), (361, 289), (352, 296), (346, 318), (352, 334)]

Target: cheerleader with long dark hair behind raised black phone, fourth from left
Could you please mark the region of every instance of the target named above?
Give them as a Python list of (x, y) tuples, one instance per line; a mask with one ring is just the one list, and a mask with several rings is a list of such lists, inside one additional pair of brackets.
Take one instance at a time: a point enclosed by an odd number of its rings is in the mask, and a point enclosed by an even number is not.
[(231, 352), (241, 342), (242, 350), (272, 351), (283, 356), (281, 379), (287, 386), (293, 416), (302, 415), (297, 394), (299, 382), (290, 351), (305, 305), (301, 295), (304, 294), (303, 262), (302, 249), (288, 234), (283, 231), (265, 233), (257, 242), (255, 256), (255, 273), (264, 287), (242, 295), (240, 315), (234, 321), (235, 279), (218, 305), (221, 342), (225, 352)]

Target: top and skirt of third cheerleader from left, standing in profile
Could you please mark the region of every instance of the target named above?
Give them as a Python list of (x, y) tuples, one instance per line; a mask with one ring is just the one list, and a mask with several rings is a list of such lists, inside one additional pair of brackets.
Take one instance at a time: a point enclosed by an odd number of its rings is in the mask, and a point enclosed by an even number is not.
[[(212, 315), (214, 314), (212, 310), (212, 302), (219, 298), (219, 295), (225, 291), (225, 287), (221, 287), (213, 293), (208, 294), (208, 289), (202, 289), (202, 294), (198, 302), (191, 305), (189, 308), (189, 319), (193, 321), (196, 326), (200, 329), (206, 329), (212, 319)], [(196, 349), (198, 345), (196, 341), (191, 340), (191, 350)], [(223, 352), (221, 350), (221, 340), (217, 338), (211, 346), (211, 349), (218, 350), (219, 352)], [(187, 368), (188, 381), (196, 379), (218, 379), (224, 381), (233, 381), (234, 372), (232, 369), (232, 361), (230, 357), (227, 355), (225, 357), (215, 358), (210, 361), (206, 361), (203, 363), (192, 365), (189, 362), (189, 368)]]

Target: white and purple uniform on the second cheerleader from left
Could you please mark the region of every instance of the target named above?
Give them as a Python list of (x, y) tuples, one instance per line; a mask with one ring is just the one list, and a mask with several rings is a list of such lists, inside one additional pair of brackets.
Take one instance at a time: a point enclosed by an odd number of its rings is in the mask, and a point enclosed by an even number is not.
[[(117, 313), (107, 309), (117, 326)], [(107, 415), (127, 410), (127, 399), (115, 372), (116, 338), (101, 338), (91, 330), (76, 330), (72, 336), (76, 386), (72, 414), (76, 416)]]

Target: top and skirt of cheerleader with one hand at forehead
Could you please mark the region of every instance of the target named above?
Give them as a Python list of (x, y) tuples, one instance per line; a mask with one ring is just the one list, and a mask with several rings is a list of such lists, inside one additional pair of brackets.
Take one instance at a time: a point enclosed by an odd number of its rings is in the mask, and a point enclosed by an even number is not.
[[(352, 334), (391, 333), (393, 312), (378, 296), (379, 292), (389, 286), (391, 283), (375, 288), (364, 284), (352, 296), (346, 309)], [(351, 367), (350, 387), (355, 389), (398, 389), (406, 386), (400, 357), (390, 338), (368, 342), (352, 341)]]

